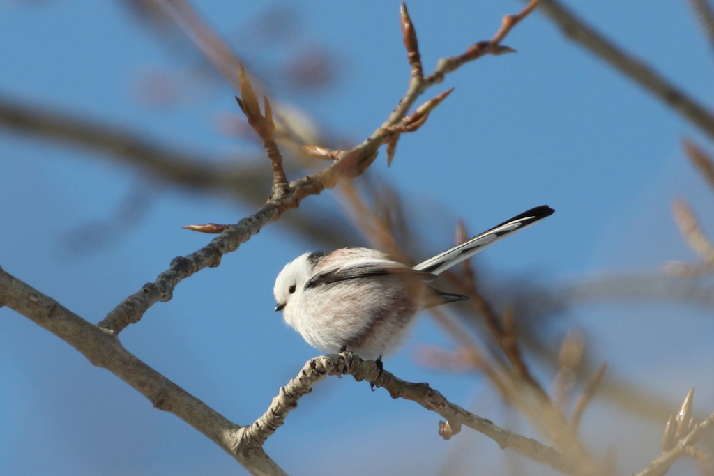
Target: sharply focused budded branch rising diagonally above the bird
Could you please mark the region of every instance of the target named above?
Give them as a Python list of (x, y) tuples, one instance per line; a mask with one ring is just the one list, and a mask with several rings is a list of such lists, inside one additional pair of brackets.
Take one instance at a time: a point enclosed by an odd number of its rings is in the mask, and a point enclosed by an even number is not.
[[(538, 1), (539, 0), (532, 0), (520, 14), (513, 16), (513, 18), (508, 21), (504, 21), (501, 29), (496, 36), (493, 37), (494, 39), (487, 42), (490, 46), (488, 46), (485, 51), (491, 54), (498, 54), (498, 52), (501, 51), (498, 42), (508, 34), (508, 31), (510, 31), (518, 21), (533, 10)], [(404, 11), (406, 11), (406, 9), (404, 9)], [(510, 17), (511, 16), (508, 16), (508, 18)], [(411, 25), (411, 29), (413, 29), (413, 25)], [(415, 41), (413, 41), (413, 43), (410, 41), (408, 48), (416, 48), (416, 32), (410, 34), (410, 37), (411, 36), (414, 37)], [(411, 51), (411, 53), (413, 53), (413, 51)], [(411, 54), (411, 58), (413, 57), (413, 54)], [(459, 64), (453, 64), (453, 62), (451, 62), (449, 63), (451, 66), (449, 66), (448, 71), (453, 71), (464, 62), (476, 59), (476, 57), (478, 56), (463, 59)], [(413, 61), (413, 59), (410, 61)], [(416, 98), (418, 98), (423, 91), (426, 91), (427, 88), (433, 86), (434, 83), (443, 80), (443, 75), (448, 71), (443, 69), (444, 66), (441, 61), (439, 64), (441, 66), (437, 66), (436, 71), (431, 76), (431, 80), (423, 79), (419, 76), (412, 76), (408, 91), (382, 126), (361, 144), (341, 154), (339, 160), (334, 161), (331, 166), (328, 166), (322, 171), (300, 178), (291, 183), (286, 183), (284, 172), (281, 168), (282, 159), (278, 159), (279, 153), (277, 148), (275, 148), (277, 155), (273, 154), (273, 156), (271, 156), (271, 166), (273, 168), (273, 195), (271, 195), (271, 198), (269, 198), (253, 216), (243, 218), (243, 220), (235, 225), (222, 226), (210, 224), (208, 226), (188, 226), (187, 228), (197, 231), (206, 231), (208, 233), (220, 231), (221, 234), (214, 238), (211, 243), (201, 248), (201, 250), (191, 253), (191, 255), (174, 258), (171, 262), (171, 267), (164, 271), (164, 273), (161, 273), (154, 283), (147, 283), (141, 290), (124, 299), (114, 310), (111, 310), (111, 312), (106, 315), (106, 318), (99, 323), (99, 326), (110, 333), (118, 334), (121, 330), (126, 328), (127, 325), (138, 322), (146, 310), (155, 303), (170, 300), (174, 288), (181, 280), (203, 268), (218, 266), (224, 254), (238, 249), (238, 246), (245, 243), (251, 236), (258, 233), (258, 231), (261, 231), (263, 226), (277, 221), (289, 208), (297, 208), (303, 198), (318, 195), (325, 188), (333, 188), (342, 180), (360, 176), (376, 158), (378, 148), (394, 137), (395, 130), (393, 126), (397, 126), (403, 118), (407, 116)], [(441, 79), (435, 81), (434, 78), (436, 78), (436, 76), (433, 76), (434, 74), (437, 74)], [(251, 126), (256, 129), (256, 132), (263, 138), (263, 143), (265, 144), (266, 138), (270, 136), (270, 126), (266, 123), (270, 114), (268, 112), (270, 111), (268, 103), (266, 102), (266, 113), (265, 116), (263, 116), (260, 112), (258, 100), (245, 74), (243, 74), (240, 83), (241, 94), (243, 94), (241, 108), (243, 108), (243, 112), (246, 113), (246, 116), (253, 118)], [(440, 96), (437, 96), (437, 98), (425, 104), (425, 110), (421, 112), (422, 121), (425, 120), (423, 118), (426, 117), (428, 111), (436, 107), (443, 97), (445, 96), (441, 96), (440, 99)], [(248, 103), (250, 103), (250, 105), (248, 105)], [(251, 117), (248, 118), (249, 123)], [(416, 124), (418, 124), (418, 120), (411, 123), (411, 126), (413, 127)], [(269, 142), (270, 141), (268, 141), (266, 150), (272, 147)], [(268, 151), (269, 156), (270, 154), (271, 152)], [(278, 193), (276, 193), (276, 190)]]

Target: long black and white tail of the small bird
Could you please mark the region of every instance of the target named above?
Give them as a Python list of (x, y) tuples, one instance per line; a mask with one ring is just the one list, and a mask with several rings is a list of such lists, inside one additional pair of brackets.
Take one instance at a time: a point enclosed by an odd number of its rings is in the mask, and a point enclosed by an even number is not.
[(504, 221), (501, 225), (494, 226), (491, 230), (484, 231), (481, 235), (476, 235), (453, 248), (449, 248), (443, 253), (439, 253), (433, 258), (429, 258), (423, 263), (414, 266), (417, 271), (439, 274), (451, 266), (461, 263), (466, 258), (470, 258), (481, 250), (488, 248), (498, 240), (502, 240), (516, 231), (521, 231), (527, 226), (533, 225), (543, 220), (546, 216), (553, 215), (555, 210), (547, 205), (531, 208), (521, 215), (514, 216), (510, 220)]

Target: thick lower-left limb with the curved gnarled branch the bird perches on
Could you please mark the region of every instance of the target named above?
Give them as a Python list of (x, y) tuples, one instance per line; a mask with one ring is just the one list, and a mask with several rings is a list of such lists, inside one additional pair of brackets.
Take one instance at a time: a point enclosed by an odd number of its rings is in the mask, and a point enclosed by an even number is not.
[(512, 448), (531, 459), (571, 475), (578, 472), (565, 457), (552, 447), (531, 438), (517, 435), (494, 425), (490, 420), (473, 415), (458, 405), (448, 402), (441, 393), (426, 383), (408, 383), (391, 373), (381, 371), (372, 360), (343, 353), (313, 358), (306, 363), (298, 377), (281, 388), (266, 413), (253, 425), (241, 427), (226, 420), (201, 400), (186, 393), (149, 368), (129, 353), (115, 335), (91, 325), (67, 310), (54, 299), (39, 293), (0, 268), (0, 302), (29, 318), (42, 328), (57, 335), (79, 350), (96, 366), (106, 368), (148, 398), (154, 407), (181, 418), (206, 435), (253, 475), (284, 475), (285, 473), (263, 452), (265, 440), (283, 424), (288, 412), (296, 407), (299, 398), (310, 393), (326, 375), (353, 375), (355, 380), (368, 380), (388, 390), (393, 398), (413, 400), (427, 410), (446, 418), (441, 425), (444, 437), (450, 437), (461, 425), (483, 433), (501, 448)]

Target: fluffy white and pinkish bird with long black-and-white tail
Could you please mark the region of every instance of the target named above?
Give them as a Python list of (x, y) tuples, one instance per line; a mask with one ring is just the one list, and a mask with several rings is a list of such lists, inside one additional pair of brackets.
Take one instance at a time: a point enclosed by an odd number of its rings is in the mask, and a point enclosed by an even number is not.
[(413, 268), (369, 248), (304, 253), (278, 273), (275, 310), (322, 353), (349, 351), (381, 365), (420, 310), (467, 299), (431, 287), (439, 273), (554, 212), (531, 208)]

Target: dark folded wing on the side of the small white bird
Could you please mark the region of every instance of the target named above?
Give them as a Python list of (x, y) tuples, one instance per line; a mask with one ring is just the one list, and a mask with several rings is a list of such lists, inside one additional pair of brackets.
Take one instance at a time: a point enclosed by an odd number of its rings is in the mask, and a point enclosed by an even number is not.
[(351, 263), (340, 266), (339, 268), (325, 270), (323, 273), (314, 275), (305, 284), (305, 288), (316, 288), (319, 285), (386, 275), (402, 275), (406, 279), (419, 279), (424, 282), (433, 281), (437, 278), (435, 274), (426, 273), (420, 270), (413, 270), (412, 268), (408, 268), (401, 263), (397, 263), (396, 261), (362, 259), (354, 260)]

